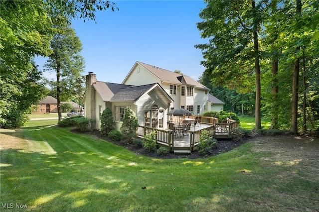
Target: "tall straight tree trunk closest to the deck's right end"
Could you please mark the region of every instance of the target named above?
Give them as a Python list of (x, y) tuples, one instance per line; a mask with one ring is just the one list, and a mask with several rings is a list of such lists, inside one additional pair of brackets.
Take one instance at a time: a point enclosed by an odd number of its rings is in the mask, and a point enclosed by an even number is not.
[[(252, 9), (255, 8), (255, 1), (252, 1)], [(254, 17), (257, 18), (257, 17)], [(260, 65), (259, 65), (259, 46), (258, 46), (258, 34), (257, 34), (258, 23), (254, 20), (254, 50), (255, 50), (255, 74), (256, 74), (256, 104), (255, 104), (255, 129), (261, 129), (261, 114), (260, 114), (260, 97), (261, 97), (261, 86), (260, 86)]]

